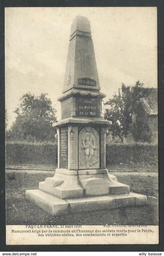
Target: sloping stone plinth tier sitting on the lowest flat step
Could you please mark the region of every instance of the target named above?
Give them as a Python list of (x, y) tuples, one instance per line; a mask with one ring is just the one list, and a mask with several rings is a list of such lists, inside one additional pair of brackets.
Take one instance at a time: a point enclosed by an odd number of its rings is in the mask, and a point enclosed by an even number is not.
[(61, 199), (129, 193), (129, 186), (119, 183), (107, 169), (57, 168), (54, 177), (39, 182), (39, 189)]

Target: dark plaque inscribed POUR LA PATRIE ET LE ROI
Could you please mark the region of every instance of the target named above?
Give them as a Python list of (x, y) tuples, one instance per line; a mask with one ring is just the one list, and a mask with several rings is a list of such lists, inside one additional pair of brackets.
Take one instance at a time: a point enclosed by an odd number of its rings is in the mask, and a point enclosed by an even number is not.
[(87, 97), (77, 98), (77, 117), (99, 117), (99, 101)]

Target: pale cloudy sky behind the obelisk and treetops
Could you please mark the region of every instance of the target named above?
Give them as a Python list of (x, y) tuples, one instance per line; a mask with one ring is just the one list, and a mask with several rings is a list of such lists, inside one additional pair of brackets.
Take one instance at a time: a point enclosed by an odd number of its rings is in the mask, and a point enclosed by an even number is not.
[(156, 7), (6, 7), (5, 105), (8, 128), (25, 93), (48, 93), (61, 118), (60, 102), (71, 23), (91, 23), (101, 91), (107, 101), (121, 83), (157, 88)]

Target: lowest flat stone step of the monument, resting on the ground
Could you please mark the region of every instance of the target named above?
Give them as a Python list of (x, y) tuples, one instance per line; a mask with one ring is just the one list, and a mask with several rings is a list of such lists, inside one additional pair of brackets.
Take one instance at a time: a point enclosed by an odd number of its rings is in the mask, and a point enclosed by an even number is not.
[(39, 189), (26, 190), (26, 198), (53, 216), (136, 207), (147, 201), (146, 196), (135, 193), (61, 199)]

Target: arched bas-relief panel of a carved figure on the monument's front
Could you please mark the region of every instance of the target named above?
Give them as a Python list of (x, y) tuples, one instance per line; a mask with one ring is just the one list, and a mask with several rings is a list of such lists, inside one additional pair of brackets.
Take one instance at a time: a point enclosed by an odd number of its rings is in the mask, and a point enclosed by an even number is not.
[(84, 127), (78, 135), (78, 168), (100, 168), (99, 133), (91, 126)]

